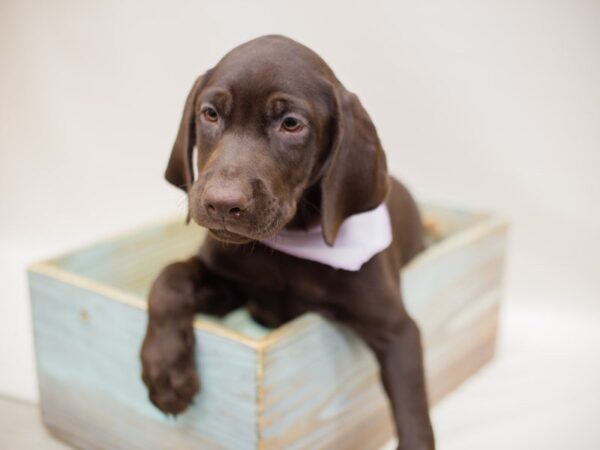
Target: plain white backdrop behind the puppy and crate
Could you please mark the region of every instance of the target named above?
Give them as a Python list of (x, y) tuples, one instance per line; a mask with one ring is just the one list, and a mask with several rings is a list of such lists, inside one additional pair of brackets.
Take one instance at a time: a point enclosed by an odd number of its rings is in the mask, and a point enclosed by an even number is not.
[(181, 210), (162, 174), (191, 83), (270, 33), (360, 96), (418, 197), (511, 218), (501, 349), (569, 356), (576, 330), (597, 353), (599, 24), (593, 0), (0, 2), (0, 393), (37, 397), (26, 264)]

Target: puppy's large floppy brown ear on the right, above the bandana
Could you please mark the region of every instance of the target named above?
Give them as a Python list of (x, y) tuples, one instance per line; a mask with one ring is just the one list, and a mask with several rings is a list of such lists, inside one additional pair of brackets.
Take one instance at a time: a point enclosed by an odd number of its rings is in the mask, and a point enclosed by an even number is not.
[(385, 153), (371, 118), (356, 95), (341, 85), (333, 90), (335, 136), (321, 181), (321, 224), (330, 246), (346, 218), (376, 208), (389, 190)]

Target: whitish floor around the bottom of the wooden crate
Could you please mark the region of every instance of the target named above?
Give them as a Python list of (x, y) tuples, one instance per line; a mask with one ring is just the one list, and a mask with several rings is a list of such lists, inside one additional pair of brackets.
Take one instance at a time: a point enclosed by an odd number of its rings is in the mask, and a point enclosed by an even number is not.
[[(433, 409), (438, 449), (598, 450), (600, 319), (511, 307), (502, 330), (495, 360)], [(0, 398), (0, 449), (67, 448), (36, 406)]]

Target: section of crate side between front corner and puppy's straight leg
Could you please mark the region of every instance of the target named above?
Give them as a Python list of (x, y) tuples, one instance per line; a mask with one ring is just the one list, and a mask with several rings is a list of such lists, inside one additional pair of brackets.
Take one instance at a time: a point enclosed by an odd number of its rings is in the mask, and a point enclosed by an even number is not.
[(261, 448), (379, 448), (393, 434), (373, 355), (344, 326), (307, 319), (264, 356)]

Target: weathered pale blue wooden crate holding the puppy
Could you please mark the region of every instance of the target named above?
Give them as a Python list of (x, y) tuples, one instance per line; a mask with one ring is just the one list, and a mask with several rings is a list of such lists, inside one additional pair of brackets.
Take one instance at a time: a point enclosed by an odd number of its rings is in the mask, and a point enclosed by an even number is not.
[[(428, 249), (402, 273), (426, 346), (433, 403), (492, 358), (506, 223), (422, 206)], [(393, 436), (374, 358), (343, 326), (308, 314), (269, 331), (243, 310), (198, 316), (202, 392), (168, 418), (147, 399), (139, 348), (160, 269), (201, 229), (150, 226), (33, 264), (29, 283), (42, 417), (85, 449), (359, 449)]]

